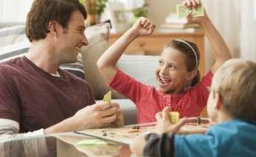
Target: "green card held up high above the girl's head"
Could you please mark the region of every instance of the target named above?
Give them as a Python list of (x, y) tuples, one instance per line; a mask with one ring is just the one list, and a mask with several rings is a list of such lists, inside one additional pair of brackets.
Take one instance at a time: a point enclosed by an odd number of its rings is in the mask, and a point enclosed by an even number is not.
[(177, 4), (177, 16), (179, 19), (186, 18), (186, 15), (190, 12), (192, 13), (193, 17), (203, 16), (204, 15), (203, 5), (201, 5), (200, 7), (197, 7), (197, 9), (195, 8), (188, 9), (183, 4)]

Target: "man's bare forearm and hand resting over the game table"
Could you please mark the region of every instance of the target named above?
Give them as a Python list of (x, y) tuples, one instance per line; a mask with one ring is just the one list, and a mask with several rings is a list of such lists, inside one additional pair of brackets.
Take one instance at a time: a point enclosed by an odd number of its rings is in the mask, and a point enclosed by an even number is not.
[[(119, 120), (116, 118), (119, 118)], [(82, 108), (74, 116), (66, 118), (51, 127), (47, 127), (44, 132), (45, 135), (65, 133), (75, 130), (107, 127), (112, 123), (118, 126), (123, 124), (122, 112), (120, 113), (119, 105), (100, 102)]]

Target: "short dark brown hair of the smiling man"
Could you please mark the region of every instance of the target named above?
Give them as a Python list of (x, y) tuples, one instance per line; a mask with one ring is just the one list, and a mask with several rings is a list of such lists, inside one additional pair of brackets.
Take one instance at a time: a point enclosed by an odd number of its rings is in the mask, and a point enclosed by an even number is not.
[(78, 0), (35, 0), (27, 14), (26, 35), (30, 41), (45, 39), (50, 21), (68, 27), (73, 12), (79, 11), (86, 19), (85, 7)]

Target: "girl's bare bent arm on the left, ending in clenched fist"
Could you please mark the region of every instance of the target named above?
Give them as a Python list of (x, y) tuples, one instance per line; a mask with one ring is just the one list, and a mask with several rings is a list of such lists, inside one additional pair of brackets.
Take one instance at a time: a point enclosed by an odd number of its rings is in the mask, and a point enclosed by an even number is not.
[(121, 36), (97, 61), (103, 76), (110, 82), (116, 74), (116, 62), (128, 45), (138, 36), (148, 36), (154, 32), (155, 25), (145, 18), (140, 18), (123, 36)]

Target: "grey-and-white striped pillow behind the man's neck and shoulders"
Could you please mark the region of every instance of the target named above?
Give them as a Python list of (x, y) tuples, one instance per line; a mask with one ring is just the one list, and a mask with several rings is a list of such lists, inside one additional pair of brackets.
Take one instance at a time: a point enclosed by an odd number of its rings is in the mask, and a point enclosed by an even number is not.
[[(30, 41), (24, 33), (24, 26), (4, 27), (0, 29), (0, 63), (9, 59), (24, 56), (28, 52)], [(82, 55), (77, 56), (76, 63), (62, 64), (64, 70), (84, 79)]]

